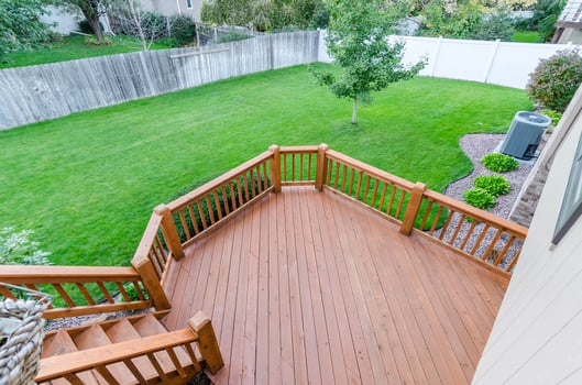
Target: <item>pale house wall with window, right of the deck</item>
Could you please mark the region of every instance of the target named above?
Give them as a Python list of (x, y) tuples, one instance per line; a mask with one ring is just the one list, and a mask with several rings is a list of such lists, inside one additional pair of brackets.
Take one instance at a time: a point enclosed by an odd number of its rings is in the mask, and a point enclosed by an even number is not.
[(582, 383), (581, 112), (582, 88), (540, 158), (553, 162), (473, 384)]

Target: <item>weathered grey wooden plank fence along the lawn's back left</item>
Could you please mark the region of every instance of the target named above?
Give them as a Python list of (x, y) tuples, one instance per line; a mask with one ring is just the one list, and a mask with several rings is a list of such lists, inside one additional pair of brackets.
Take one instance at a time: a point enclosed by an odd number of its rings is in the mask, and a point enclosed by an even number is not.
[(318, 61), (319, 32), (0, 70), (0, 130)]

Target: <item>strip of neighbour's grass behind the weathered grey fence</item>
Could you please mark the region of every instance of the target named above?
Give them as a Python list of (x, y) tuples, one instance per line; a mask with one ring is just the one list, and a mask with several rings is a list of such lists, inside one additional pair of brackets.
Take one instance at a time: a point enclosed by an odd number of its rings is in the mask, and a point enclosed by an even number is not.
[[(129, 36), (108, 36), (111, 45), (85, 44), (85, 36), (64, 37), (64, 43), (52, 43), (46, 47), (35, 51), (18, 51), (7, 55), (8, 63), (0, 63), (0, 68), (23, 67), (37, 64), (74, 61), (84, 57), (123, 54), (142, 50), (139, 38)], [(151, 50), (164, 50), (167, 46), (154, 43)]]

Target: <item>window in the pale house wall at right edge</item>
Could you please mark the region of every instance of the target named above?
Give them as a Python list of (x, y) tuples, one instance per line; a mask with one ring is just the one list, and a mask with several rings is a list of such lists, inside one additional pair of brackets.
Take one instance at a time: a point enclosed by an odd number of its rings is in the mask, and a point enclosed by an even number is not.
[(565, 235), (568, 230), (575, 223), (576, 219), (582, 215), (582, 135), (578, 141), (578, 150), (575, 152), (570, 177), (568, 178), (568, 186), (556, 223), (556, 231), (553, 232), (552, 243), (558, 244)]

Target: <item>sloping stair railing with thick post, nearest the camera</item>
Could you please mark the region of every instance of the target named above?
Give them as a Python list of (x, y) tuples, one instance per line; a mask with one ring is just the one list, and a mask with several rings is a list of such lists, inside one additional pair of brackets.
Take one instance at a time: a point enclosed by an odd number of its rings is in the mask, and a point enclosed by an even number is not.
[[(178, 378), (180, 383), (186, 382), (202, 367), (216, 373), (223, 362), (210, 319), (198, 312), (188, 324), (187, 329), (43, 359), (35, 380), (45, 383), (63, 378), (65, 383), (84, 384), (87, 371), (92, 371), (108, 384), (127, 383), (129, 377), (134, 378), (131, 383), (157, 384), (178, 383)], [(188, 360), (180, 360), (177, 350), (185, 352)], [(163, 369), (160, 358), (166, 354), (173, 371)], [(156, 378), (144, 378), (135, 365), (138, 360), (150, 362)]]

